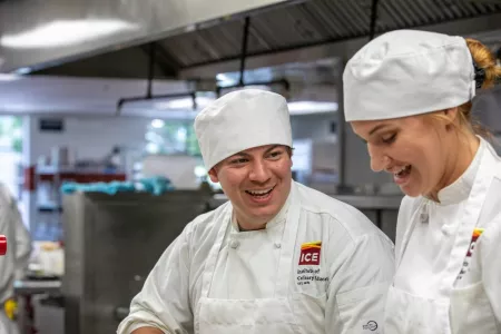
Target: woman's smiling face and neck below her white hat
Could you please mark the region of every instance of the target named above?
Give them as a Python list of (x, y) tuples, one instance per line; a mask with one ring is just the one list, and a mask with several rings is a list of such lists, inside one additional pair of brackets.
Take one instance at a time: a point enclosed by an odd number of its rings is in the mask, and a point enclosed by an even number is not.
[[(353, 121), (354, 131), (366, 138), (374, 171), (387, 171), (409, 196), (436, 198), (454, 181), (477, 151), (474, 135), (456, 132), (456, 110), (445, 110), (439, 121), (430, 116)], [(443, 125), (443, 126), (442, 126)], [(465, 154), (459, 154), (464, 143)], [(468, 144), (470, 143), (470, 144)]]

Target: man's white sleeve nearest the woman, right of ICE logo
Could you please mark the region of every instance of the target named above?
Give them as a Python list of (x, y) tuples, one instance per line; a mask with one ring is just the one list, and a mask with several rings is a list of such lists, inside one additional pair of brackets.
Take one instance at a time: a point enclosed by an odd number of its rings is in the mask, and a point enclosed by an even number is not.
[(343, 263), (331, 274), (325, 333), (382, 334), (394, 275), (393, 244), (379, 232), (363, 235), (341, 256)]

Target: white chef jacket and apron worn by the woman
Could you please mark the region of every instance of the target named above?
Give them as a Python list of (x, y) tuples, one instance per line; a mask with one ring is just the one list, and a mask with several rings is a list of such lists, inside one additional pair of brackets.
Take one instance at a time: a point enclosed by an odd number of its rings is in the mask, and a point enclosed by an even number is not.
[[(472, 197), (482, 178), (485, 189)], [(501, 333), (501, 160), (485, 140), (439, 200), (402, 202), (386, 333)], [(484, 229), (477, 242), (474, 228)]]

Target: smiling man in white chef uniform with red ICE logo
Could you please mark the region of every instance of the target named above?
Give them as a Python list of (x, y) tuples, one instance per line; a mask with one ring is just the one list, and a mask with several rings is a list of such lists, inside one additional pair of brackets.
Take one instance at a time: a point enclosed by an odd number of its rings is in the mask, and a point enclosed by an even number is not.
[(358, 210), (293, 181), (286, 100), (234, 91), (195, 130), (229, 200), (167, 248), (118, 333), (383, 333), (393, 245)]

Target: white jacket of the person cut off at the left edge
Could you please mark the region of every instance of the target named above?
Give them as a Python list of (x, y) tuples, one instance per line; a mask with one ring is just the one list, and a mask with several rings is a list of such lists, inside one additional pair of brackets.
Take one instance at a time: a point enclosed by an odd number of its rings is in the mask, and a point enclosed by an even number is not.
[[(14, 296), (13, 282), (28, 265), (31, 237), (22, 223), (16, 199), (6, 185), (0, 183), (0, 234), (7, 237), (7, 254), (0, 256), (0, 304)], [(17, 333), (17, 325), (0, 310), (0, 328)], [(1, 332), (3, 333), (3, 332)]]

